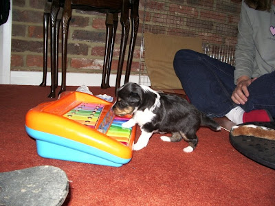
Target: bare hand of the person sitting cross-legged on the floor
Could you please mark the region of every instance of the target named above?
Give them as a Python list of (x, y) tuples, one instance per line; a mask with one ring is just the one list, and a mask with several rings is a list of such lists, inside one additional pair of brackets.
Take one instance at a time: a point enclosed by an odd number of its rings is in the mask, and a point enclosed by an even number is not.
[(248, 101), (248, 86), (254, 81), (256, 78), (249, 78), (248, 76), (241, 76), (236, 80), (236, 88), (234, 89), (231, 99), (236, 104), (245, 104)]

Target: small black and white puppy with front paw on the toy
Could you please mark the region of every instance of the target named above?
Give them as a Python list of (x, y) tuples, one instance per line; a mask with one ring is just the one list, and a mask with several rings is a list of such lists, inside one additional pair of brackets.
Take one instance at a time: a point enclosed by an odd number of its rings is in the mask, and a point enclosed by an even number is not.
[(184, 139), (189, 144), (184, 152), (192, 152), (198, 143), (196, 133), (200, 126), (221, 130), (217, 122), (203, 115), (183, 98), (157, 93), (150, 87), (135, 83), (126, 83), (118, 89), (113, 112), (118, 116), (133, 115), (122, 127), (130, 128), (135, 124), (140, 126), (142, 134), (134, 145), (134, 150), (146, 147), (153, 133), (172, 133), (172, 137), (162, 136), (161, 139)]

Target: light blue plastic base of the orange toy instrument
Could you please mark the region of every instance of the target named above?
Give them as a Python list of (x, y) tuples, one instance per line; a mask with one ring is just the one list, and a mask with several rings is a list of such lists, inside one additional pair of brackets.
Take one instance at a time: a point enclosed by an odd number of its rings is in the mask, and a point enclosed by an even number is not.
[(28, 135), (36, 139), (37, 153), (41, 157), (113, 167), (120, 167), (131, 161), (131, 159), (116, 157), (78, 141), (33, 130), (28, 126), (25, 126), (25, 128)]

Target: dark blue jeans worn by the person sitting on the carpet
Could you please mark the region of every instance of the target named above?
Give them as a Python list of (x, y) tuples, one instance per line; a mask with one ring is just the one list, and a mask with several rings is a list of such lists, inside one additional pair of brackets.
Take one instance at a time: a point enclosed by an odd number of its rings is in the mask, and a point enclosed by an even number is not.
[[(175, 54), (174, 69), (190, 102), (208, 117), (223, 117), (238, 106), (231, 100), (234, 67), (188, 49)], [(250, 84), (250, 96), (244, 111), (266, 109), (275, 117), (275, 71), (265, 74)]]

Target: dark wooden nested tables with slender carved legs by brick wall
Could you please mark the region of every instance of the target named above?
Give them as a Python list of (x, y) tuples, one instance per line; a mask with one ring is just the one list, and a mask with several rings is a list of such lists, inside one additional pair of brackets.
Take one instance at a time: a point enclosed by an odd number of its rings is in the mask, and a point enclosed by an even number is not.
[[(115, 90), (120, 87), (122, 68), (126, 50), (126, 43), (128, 41), (130, 21), (129, 11), (131, 10), (131, 40), (129, 45), (129, 55), (126, 65), (126, 73), (124, 83), (129, 82), (131, 72), (131, 63), (133, 60), (133, 51), (137, 37), (137, 30), (139, 25), (138, 16), (139, 0), (47, 0), (44, 12), (44, 69), (43, 69), (43, 82), (41, 86), (45, 86), (45, 73), (47, 71), (47, 22), (51, 16), (51, 92), (49, 97), (55, 97), (55, 89), (57, 87), (57, 73), (58, 73), (58, 27), (61, 21), (62, 12), (62, 93), (66, 88), (66, 70), (67, 70), (67, 37), (69, 29), (69, 21), (72, 17), (72, 9), (77, 8), (80, 10), (94, 10), (107, 14), (106, 16), (106, 45), (104, 53), (104, 65), (102, 69), (102, 88), (108, 88), (109, 76), (111, 73), (111, 60), (113, 56), (113, 45), (115, 42), (115, 33), (118, 25), (118, 14), (120, 13), (120, 23), (122, 25), (122, 38), (120, 45), (120, 57), (118, 60), (118, 72), (115, 82)], [(49, 14), (49, 9), (50, 14)], [(63, 8), (63, 11), (62, 11)]]

